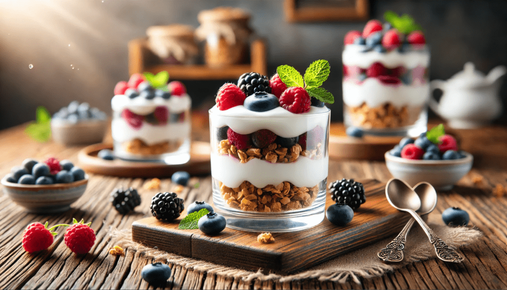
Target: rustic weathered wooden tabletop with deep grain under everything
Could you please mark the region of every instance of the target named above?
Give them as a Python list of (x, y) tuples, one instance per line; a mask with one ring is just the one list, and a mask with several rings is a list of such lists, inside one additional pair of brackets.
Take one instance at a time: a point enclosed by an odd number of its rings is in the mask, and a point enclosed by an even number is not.
[[(193, 137), (209, 140), (207, 116), (194, 117)], [(43, 159), (56, 156), (77, 162), (81, 147), (65, 148), (53, 142), (36, 143), (24, 134), (24, 126), (0, 131), (0, 176), (11, 167), (20, 165), (28, 157)], [(363, 288), (446, 288), (485, 289), (507, 288), (507, 199), (497, 198), (492, 189), (507, 186), (507, 128), (488, 127), (478, 130), (453, 130), (461, 147), (474, 154), (474, 168), (451, 192), (439, 193), (436, 212), (449, 206), (465, 208), (470, 214), (470, 225), (484, 233), (477, 244), (462, 249), (465, 261), (449, 265), (439, 260), (428, 260), (408, 265), (383, 277), (335, 283), (308, 279), (279, 283), (229, 279), (214, 274), (200, 273), (173, 266), (169, 287), (205, 289), (363, 289)], [(390, 177), (384, 162), (330, 160), (329, 180), (338, 178), (376, 178), (386, 182)], [(481, 182), (482, 179), (482, 182)], [(91, 175), (85, 195), (73, 208), (62, 214), (43, 215), (25, 212), (5, 195), (0, 194), (0, 288), (126, 288), (146, 289), (148, 283), (140, 278), (140, 269), (152, 262), (138, 253), (127, 251), (125, 256), (109, 255), (110, 227), (130, 229), (132, 222), (150, 216), (151, 193), (142, 193), (142, 203), (133, 214), (118, 214), (108, 201), (114, 188), (140, 187), (140, 178), (117, 178)], [(210, 176), (192, 176), (191, 184), (201, 187), (183, 192), (186, 202), (196, 199), (211, 201)], [(207, 186), (204, 186), (207, 185)], [(170, 179), (162, 180), (162, 189), (169, 189)], [(38, 255), (30, 255), (21, 246), (25, 227), (32, 222), (50, 224), (68, 223), (72, 218), (92, 222), (96, 243), (90, 253), (76, 256), (63, 243), (63, 230), (53, 245)]]

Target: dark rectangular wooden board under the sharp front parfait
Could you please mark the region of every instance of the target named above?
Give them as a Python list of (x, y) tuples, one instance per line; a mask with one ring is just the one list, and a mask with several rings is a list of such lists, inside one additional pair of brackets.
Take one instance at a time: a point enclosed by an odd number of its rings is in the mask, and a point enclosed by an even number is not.
[[(217, 236), (208, 236), (199, 230), (178, 230), (186, 216), (183, 212), (171, 223), (153, 217), (134, 222), (132, 238), (150, 247), (226, 266), (295, 273), (396, 234), (407, 223), (410, 216), (387, 202), (384, 183), (366, 180), (363, 184), (366, 202), (346, 227), (335, 226), (324, 218), (312, 229), (273, 233), (275, 242), (262, 244), (257, 241), (260, 233), (226, 228)], [(333, 203), (328, 195), (326, 208)]]

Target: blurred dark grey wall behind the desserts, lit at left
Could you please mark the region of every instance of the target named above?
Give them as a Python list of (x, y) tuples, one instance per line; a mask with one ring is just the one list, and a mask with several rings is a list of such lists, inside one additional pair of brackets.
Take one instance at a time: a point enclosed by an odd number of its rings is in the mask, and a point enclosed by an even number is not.
[[(109, 113), (115, 84), (129, 77), (129, 40), (156, 24), (197, 28), (199, 11), (217, 6), (252, 14), (251, 27), (267, 40), (269, 76), (281, 64), (304, 72), (314, 60), (329, 60), (323, 87), (335, 95), (328, 105), (332, 121), (342, 120), (343, 38), (366, 21), (288, 23), (282, 0), (17, 0), (0, 1), (0, 129), (33, 120), (39, 105), (53, 114), (72, 100)], [(450, 78), (466, 61), (484, 73), (507, 65), (507, 1), (370, 0), (370, 18), (383, 20), (388, 10), (409, 14), (424, 28), (431, 80)], [(234, 80), (184, 81), (194, 108), (211, 107), (224, 81)], [(505, 80), (501, 96), (505, 103)], [(503, 112), (496, 123), (507, 124)]]

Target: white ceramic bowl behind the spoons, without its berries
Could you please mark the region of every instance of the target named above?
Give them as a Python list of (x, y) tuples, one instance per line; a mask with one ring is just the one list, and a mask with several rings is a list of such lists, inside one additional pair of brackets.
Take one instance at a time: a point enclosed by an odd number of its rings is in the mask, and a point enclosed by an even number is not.
[(450, 190), (474, 163), (472, 154), (454, 160), (410, 160), (384, 154), (385, 164), (392, 176), (404, 180), (410, 186), (427, 182), (437, 190)]

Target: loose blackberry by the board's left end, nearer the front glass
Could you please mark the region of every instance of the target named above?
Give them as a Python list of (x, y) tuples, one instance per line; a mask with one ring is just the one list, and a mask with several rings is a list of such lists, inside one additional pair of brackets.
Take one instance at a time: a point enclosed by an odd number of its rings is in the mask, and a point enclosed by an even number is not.
[(177, 196), (178, 195), (173, 192), (157, 193), (157, 195), (152, 198), (152, 205), (150, 206), (153, 216), (155, 216), (157, 220), (168, 222), (177, 219), (179, 213), (185, 208), (183, 199)]

